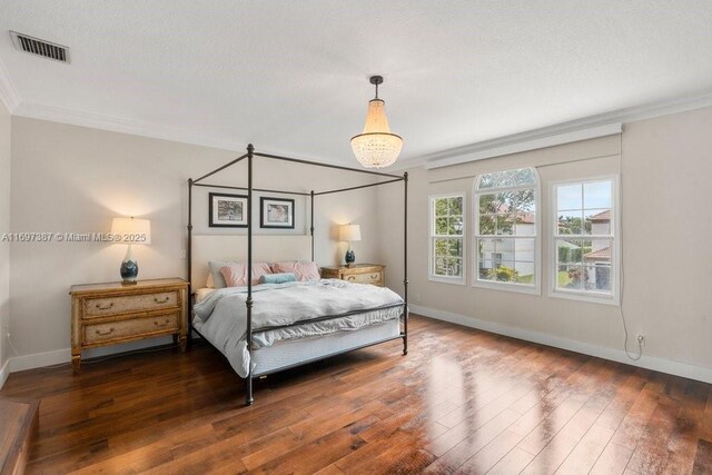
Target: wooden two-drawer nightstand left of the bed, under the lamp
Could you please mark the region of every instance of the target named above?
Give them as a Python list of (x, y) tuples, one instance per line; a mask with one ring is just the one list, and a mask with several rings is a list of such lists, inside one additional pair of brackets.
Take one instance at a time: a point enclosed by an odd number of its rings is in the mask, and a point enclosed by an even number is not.
[(185, 352), (188, 338), (188, 283), (179, 278), (136, 285), (87, 284), (71, 287), (71, 363), (81, 350), (172, 335)]

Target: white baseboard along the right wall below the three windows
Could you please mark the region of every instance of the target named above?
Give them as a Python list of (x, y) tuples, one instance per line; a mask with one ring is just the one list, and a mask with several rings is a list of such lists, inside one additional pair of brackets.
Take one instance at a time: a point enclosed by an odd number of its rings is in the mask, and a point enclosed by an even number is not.
[(412, 313), (423, 315), (425, 317), (712, 384), (712, 368), (705, 368), (703, 366), (695, 366), (686, 363), (673, 362), (670, 359), (646, 355), (643, 355), (641, 359), (634, 362), (626, 356), (625, 352), (622, 349), (591, 345), (587, 343), (562, 338), (540, 331), (500, 325), (493, 321), (486, 321), (466, 315), (453, 314), (451, 311), (438, 310), (435, 308), (421, 307), (418, 305), (408, 305), (408, 307)]

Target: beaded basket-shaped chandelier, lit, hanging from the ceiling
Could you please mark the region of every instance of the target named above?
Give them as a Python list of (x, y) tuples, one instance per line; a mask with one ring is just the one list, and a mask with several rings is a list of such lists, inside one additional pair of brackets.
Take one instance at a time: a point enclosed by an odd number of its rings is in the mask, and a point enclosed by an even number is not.
[(364, 167), (383, 168), (396, 161), (403, 148), (403, 139), (390, 133), (386, 102), (378, 99), (378, 85), (383, 83), (383, 77), (372, 76), (370, 83), (376, 86), (376, 97), (368, 101), (364, 131), (352, 138), (352, 150)]

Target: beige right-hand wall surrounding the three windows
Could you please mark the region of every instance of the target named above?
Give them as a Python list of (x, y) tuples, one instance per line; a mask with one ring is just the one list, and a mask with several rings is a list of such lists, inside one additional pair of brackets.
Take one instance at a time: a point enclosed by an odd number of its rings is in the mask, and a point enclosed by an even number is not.
[[(626, 125), (622, 139), (599, 139), (603, 152), (590, 152), (589, 144), (568, 146), (446, 169), (408, 170), (409, 184), (409, 301), (433, 316), (493, 329), (557, 346), (626, 360), (622, 353), (623, 327), (616, 306), (548, 296), (550, 184), (555, 180), (617, 174), (622, 150), (624, 240), (624, 311), (633, 335), (646, 338), (641, 364), (681, 372), (692, 377), (712, 375), (712, 219), (708, 209), (712, 190), (712, 108)], [(622, 140), (617, 146), (616, 141)], [(596, 142), (593, 142), (596, 145)], [(595, 148), (595, 147), (594, 147)], [(582, 151), (583, 150), (583, 151)], [(572, 160), (567, 162), (566, 157)], [(473, 288), (472, 253), (467, 256), (468, 285), (429, 281), (429, 195), (465, 192), (467, 229), (472, 230), (472, 184), (483, 171), (534, 165), (542, 180), (542, 294), (538, 296)], [(458, 178), (463, 177), (463, 178)], [(444, 181), (443, 181), (444, 180)], [(387, 219), (400, 204), (390, 190), (379, 190), (380, 227), (387, 244), (403, 232)], [(472, 248), (472, 239), (467, 240)], [(394, 246), (394, 249), (397, 246)], [(390, 269), (388, 286), (402, 289), (399, 253), (382, 250)], [(672, 364), (669, 365), (669, 363)], [(674, 366), (682, 364), (682, 366)], [(674, 367), (673, 367), (674, 366)]]

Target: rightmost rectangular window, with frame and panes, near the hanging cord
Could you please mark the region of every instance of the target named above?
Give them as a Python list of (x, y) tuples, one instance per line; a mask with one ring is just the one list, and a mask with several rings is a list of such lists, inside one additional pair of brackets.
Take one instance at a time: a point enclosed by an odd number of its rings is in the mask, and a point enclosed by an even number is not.
[(615, 178), (554, 184), (554, 296), (616, 303)]

